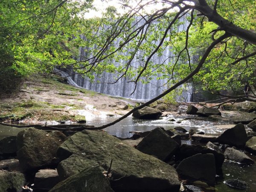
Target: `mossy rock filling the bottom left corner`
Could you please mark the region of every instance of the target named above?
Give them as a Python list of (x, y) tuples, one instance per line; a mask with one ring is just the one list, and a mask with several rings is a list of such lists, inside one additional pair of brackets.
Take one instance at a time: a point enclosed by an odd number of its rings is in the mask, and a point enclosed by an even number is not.
[(25, 184), (25, 177), (20, 172), (7, 172), (0, 170), (0, 191), (1, 192), (22, 192)]

